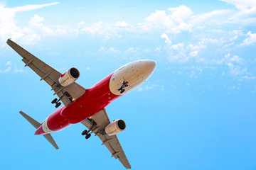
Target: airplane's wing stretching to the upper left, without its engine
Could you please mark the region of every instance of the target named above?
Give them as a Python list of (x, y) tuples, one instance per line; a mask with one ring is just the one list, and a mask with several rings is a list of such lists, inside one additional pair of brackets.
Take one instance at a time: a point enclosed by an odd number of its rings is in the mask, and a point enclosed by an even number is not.
[(41, 80), (46, 81), (46, 83), (51, 86), (52, 90), (55, 91), (54, 94), (58, 95), (65, 106), (68, 106), (68, 104), (85, 94), (86, 89), (77, 83), (73, 83), (65, 87), (57, 86), (58, 78), (61, 76), (60, 72), (39, 60), (12, 40), (8, 39), (6, 43), (12, 47), (18, 55), (21, 55), (22, 61), (25, 63), (25, 67), (28, 66), (33, 69), (33, 71), (41, 77)]

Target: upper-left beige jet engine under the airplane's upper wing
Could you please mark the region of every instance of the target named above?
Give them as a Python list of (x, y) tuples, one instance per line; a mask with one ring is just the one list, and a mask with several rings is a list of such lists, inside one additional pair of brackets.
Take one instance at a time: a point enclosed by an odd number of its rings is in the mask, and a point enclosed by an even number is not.
[(64, 74), (58, 79), (61, 86), (68, 86), (73, 84), (80, 77), (80, 72), (77, 68), (72, 67), (67, 70)]

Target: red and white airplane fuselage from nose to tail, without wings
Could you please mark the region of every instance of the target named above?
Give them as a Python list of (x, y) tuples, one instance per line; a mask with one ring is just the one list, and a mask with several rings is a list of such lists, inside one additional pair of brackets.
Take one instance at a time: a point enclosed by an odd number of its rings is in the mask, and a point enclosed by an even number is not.
[[(90, 118), (90, 116), (105, 109), (115, 99), (143, 84), (154, 72), (155, 67), (156, 63), (152, 60), (137, 60), (120, 67), (87, 89), (85, 94), (73, 103), (63, 106), (49, 115), (36, 130), (35, 135), (57, 132), (69, 125)], [(124, 82), (127, 82), (127, 86), (122, 87)], [(120, 89), (120, 87), (122, 88)]]

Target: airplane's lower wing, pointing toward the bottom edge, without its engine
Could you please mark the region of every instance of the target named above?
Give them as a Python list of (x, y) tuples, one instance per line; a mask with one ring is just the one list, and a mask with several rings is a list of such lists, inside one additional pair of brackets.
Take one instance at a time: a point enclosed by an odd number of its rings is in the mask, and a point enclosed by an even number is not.
[(110, 124), (110, 118), (107, 116), (107, 112), (102, 110), (95, 115), (92, 115), (92, 117), (82, 120), (81, 123), (90, 129), (93, 122), (96, 123), (96, 126), (92, 128), (92, 133), (95, 133), (95, 136), (97, 135), (100, 137), (100, 140), (102, 140), (102, 145), (105, 145), (107, 149), (110, 150), (112, 154), (111, 157), (114, 157), (115, 159), (118, 158), (126, 169), (131, 169), (131, 165), (129, 164), (129, 161), (124, 154), (124, 150), (117, 139), (117, 135), (102, 135), (105, 127)]

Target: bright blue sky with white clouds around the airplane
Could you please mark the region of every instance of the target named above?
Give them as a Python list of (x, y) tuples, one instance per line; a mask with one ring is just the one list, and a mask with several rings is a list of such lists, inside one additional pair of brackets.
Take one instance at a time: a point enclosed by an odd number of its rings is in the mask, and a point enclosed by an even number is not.
[(0, 169), (124, 169), (81, 124), (55, 150), (21, 115), (56, 108), (50, 86), (6, 40), (90, 88), (134, 60), (148, 81), (113, 101), (110, 120), (132, 169), (256, 169), (256, 1), (1, 1)]

